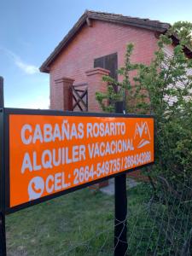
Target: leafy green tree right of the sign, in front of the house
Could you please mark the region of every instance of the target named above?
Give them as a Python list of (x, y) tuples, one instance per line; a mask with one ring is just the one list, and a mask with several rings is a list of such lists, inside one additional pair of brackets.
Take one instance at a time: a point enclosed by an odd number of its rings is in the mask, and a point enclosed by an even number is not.
[[(172, 45), (173, 37), (178, 39), (178, 44), (172, 55), (166, 55), (164, 49)], [(192, 204), (185, 203), (191, 202), (192, 198), (192, 60), (184, 52), (185, 49), (192, 49), (191, 42), (192, 24), (175, 23), (166, 34), (160, 35), (158, 49), (149, 65), (131, 63), (134, 45), (128, 44), (125, 66), (118, 70), (122, 82), (105, 76), (103, 80), (109, 84), (107, 93), (96, 93), (104, 111), (113, 112), (114, 103), (124, 100), (127, 113), (154, 114), (155, 165), (147, 172), (154, 180), (156, 195), (164, 195), (161, 203), (165, 205), (163, 211), (166, 209), (165, 223), (169, 225), (167, 230), (176, 234), (170, 236), (170, 243), (174, 250), (177, 241), (179, 255), (189, 255), (192, 250), (189, 248), (191, 215), (188, 215), (190, 224), (183, 229), (183, 234), (186, 233), (183, 241), (177, 234), (177, 227), (173, 227), (170, 221), (175, 216), (183, 216), (183, 212), (191, 214), (192, 210)], [(113, 90), (114, 84), (119, 86), (117, 94)], [(172, 201), (179, 207), (172, 207), (170, 217)], [(177, 226), (180, 227), (180, 224)]]

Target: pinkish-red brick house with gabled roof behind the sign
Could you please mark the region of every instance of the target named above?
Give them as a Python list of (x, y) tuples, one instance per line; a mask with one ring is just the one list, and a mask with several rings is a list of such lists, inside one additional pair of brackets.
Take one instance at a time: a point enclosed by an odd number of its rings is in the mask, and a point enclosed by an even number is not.
[[(132, 61), (148, 64), (160, 33), (169, 27), (157, 20), (85, 11), (40, 67), (50, 76), (50, 108), (101, 111), (96, 91), (107, 88), (102, 82), (104, 74), (117, 78), (117, 68), (124, 65), (126, 44), (135, 45)], [(177, 38), (173, 39), (177, 44)], [(187, 49), (186, 54), (191, 56)]]

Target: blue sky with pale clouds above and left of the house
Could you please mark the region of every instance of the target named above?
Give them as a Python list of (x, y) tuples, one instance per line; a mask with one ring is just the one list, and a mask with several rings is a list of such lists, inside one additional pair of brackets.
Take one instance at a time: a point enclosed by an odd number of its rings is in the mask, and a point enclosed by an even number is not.
[(49, 74), (38, 68), (85, 9), (192, 22), (192, 0), (0, 0), (5, 107), (49, 108)]

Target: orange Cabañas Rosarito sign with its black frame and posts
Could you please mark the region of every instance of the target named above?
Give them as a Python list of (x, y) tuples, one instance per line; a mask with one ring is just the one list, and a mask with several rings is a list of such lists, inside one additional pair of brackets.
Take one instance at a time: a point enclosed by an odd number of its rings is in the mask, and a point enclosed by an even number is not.
[[(0, 246), (4, 214), (115, 177), (115, 256), (125, 255), (126, 173), (154, 163), (154, 117), (3, 108)], [(19, 150), (18, 150), (19, 148)]]

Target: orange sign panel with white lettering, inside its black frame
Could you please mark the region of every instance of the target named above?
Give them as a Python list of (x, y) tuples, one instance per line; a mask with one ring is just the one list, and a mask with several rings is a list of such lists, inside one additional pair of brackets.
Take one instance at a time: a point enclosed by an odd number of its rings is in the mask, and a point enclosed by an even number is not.
[(9, 114), (9, 207), (154, 162), (154, 119)]

